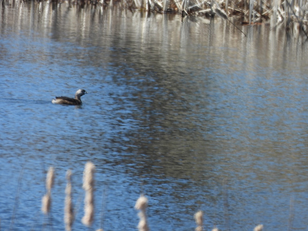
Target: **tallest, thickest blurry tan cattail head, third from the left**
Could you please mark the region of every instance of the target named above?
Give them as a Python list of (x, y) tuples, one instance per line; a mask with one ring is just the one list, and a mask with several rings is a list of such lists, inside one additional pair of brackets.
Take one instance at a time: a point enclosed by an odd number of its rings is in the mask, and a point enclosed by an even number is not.
[(94, 171), (95, 166), (87, 162), (83, 171), (83, 189), (85, 190), (84, 216), (82, 223), (91, 226), (94, 218)]

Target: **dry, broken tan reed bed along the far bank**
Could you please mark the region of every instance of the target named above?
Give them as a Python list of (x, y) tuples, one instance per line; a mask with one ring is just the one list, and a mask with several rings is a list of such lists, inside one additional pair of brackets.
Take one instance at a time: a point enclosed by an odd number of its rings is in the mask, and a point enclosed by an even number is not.
[[(57, 0), (55, 0), (57, 1)], [(64, 1), (64, 0), (63, 0)], [(264, 23), (272, 28), (281, 23), (287, 30), (298, 25), (305, 31), (308, 24), (307, 0), (67, 0), (79, 4), (100, 4), (112, 6), (120, 3), (123, 8), (160, 13), (186, 15), (215, 15), (227, 19), (240, 16), (240, 22), (247, 25)], [(217, 11), (217, 6), (219, 9)], [(226, 16), (226, 17), (225, 17)]]

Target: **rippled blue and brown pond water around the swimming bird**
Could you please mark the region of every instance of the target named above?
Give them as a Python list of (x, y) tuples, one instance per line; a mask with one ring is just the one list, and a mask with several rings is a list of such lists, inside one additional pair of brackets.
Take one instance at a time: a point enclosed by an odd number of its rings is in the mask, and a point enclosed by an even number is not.
[[(83, 230), (89, 160), (93, 229), (136, 230), (140, 193), (151, 230), (193, 230), (199, 209), (206, 230), (307, 229), (304, 36), (65, 2), (5, 2), (0, 16), (2, 229), (64, 230), (71, 169)], [(82, 106), (51, 103), (79, 88)]]

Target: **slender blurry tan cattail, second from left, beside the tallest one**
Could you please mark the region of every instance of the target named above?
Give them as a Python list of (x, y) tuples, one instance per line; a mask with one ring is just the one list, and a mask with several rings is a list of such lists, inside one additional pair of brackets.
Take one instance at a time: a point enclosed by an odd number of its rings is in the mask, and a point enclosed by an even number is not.
[(74, 220), (74, 212), (73, 212), (73, 205), (72, 205), (72, 184), (71, 184), (71, 170), (67, 170), (66, 178), (67, 184), (65, 188), (65, 205), (64, 205), (64, 223), (65, 223), (65, 230), (71, 231), (72, 224)]

